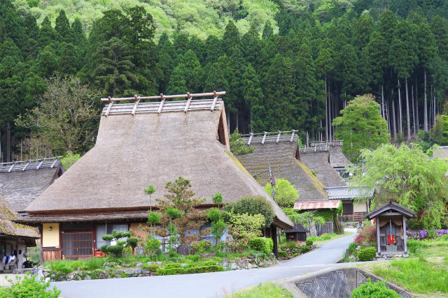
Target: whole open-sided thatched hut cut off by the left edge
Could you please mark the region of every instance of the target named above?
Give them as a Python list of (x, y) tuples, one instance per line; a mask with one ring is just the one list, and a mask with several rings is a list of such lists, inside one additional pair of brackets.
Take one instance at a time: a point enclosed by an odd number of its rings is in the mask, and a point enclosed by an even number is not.
[(0, 193), (0, 253), (1, 256), (14, 256), (12, 262), (0, 260), (0, 272), (22, 268), (23, 254), (28, 246), (36, 246), (39, 234), (36, 229), (20, 223), (13, 223), (20, 215), (6, 202)]

